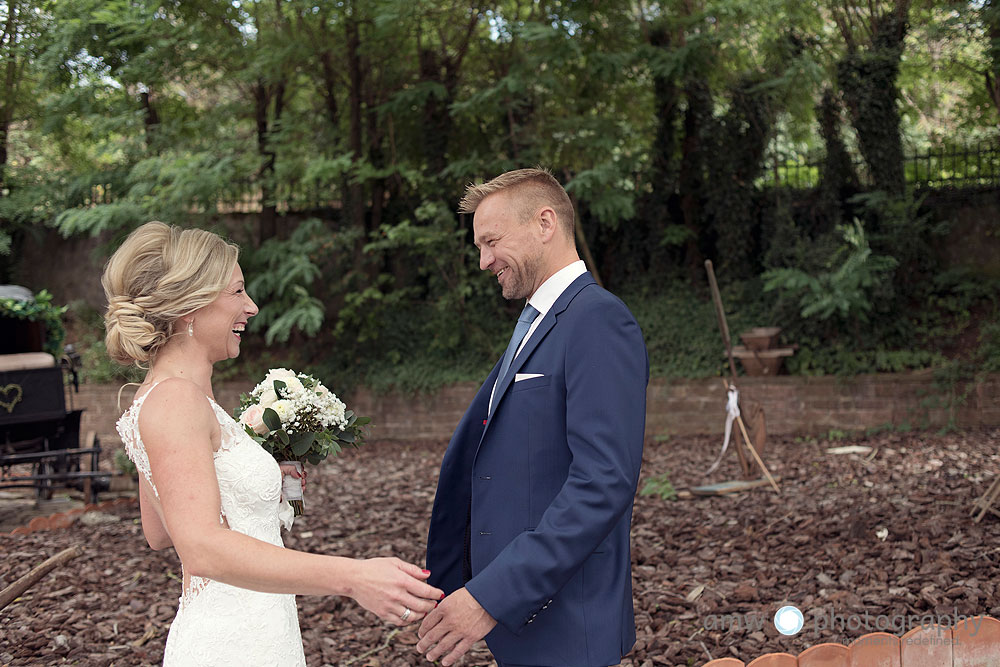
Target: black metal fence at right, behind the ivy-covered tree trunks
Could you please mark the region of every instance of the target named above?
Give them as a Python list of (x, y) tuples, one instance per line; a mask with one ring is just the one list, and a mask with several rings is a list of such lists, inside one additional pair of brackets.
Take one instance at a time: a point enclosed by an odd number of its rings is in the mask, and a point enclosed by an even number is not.
[[(853, 159), (861, 185), (871, 186), (868, 165)], [(995, 142), (943, 146), (908, 156), (903, 164), (906, 182), (917, 189), (995, 187), (1000, 185), (1000, 147)], [(760, 187), (814, 188), (822, 178), (823, 161), (772, 151)]]

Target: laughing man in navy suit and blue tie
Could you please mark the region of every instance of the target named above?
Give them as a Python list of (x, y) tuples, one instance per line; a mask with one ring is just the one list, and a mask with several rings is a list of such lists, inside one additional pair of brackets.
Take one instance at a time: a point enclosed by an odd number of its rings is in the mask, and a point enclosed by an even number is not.
[(475, 213), (480, 268), (527, 305), (441, 463), (427, 568), (449, 595), (417, 650), (451, 665), (486, 637), (502, 667), (616, 665), (635, 642), (642, 332), (580, 261), (550, 173), (469, 186), (459, 210)]

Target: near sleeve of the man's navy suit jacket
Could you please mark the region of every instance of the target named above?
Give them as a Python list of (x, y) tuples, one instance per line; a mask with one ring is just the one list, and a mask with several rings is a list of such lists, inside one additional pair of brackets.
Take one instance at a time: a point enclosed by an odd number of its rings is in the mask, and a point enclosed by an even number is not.
[(608, 536), (631, 507), (638, 484), (649, 380), (646, 346), (620, 301), (607, 295), (589, 306), (565, 322), (571, 326), (565, 378), (572, 454), (566, 481), (535, 529), (516, 537), (466, 584), (515, 634)]

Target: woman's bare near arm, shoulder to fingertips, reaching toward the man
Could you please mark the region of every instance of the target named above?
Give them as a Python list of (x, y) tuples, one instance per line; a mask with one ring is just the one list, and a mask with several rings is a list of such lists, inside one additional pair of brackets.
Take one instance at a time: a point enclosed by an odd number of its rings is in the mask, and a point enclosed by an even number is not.
[(268, 593), (346, 595), (397, 622), (404, 609), (422, 615), (442, 596), (421, 581), (424, 571), (396, 558), (293, 551), (223, 526), (212, 458), (218, 422), (193, 384), (162, 382), (143, 404), (139, 428), (167, 533), (188, 574)]

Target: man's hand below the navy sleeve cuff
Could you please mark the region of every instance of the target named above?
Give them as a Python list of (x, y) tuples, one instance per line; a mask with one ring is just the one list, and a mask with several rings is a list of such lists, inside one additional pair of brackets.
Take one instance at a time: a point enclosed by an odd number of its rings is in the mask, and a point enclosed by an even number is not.
[(442, 600), (420, 624), (417, 650), (431, 662), (440, 658), (441, 664), (447, 667), (455, 664), (496, 624), (476, 598), (460, 588)]

